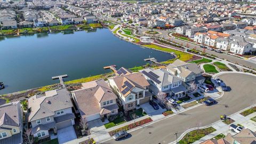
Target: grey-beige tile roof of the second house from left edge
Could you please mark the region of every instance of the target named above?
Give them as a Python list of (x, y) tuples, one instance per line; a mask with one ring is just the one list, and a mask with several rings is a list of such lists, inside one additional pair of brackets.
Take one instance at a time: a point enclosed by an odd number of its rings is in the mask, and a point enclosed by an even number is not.
[(31, 113), (29, 122), (47, 116), (53, 116), (54, 111), (73, 107), (69, 92), (66, 88), (46, 92), (46, 95), (34, 95), (28, 99), (28, 108)]

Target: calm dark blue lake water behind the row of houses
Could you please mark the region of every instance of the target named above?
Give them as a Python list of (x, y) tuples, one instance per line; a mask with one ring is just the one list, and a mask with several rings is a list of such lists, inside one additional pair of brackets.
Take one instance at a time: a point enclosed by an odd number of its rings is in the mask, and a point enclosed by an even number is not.
[(143, 49), (122, 41), (108, 29), (97, 31), (0, 37), (0, 94), (58, 83), (52, 76), (67, 74), (65, 81), (110, 72), (104, 66), (131, 68), (143, 59), (172, 59), (171, 54)]

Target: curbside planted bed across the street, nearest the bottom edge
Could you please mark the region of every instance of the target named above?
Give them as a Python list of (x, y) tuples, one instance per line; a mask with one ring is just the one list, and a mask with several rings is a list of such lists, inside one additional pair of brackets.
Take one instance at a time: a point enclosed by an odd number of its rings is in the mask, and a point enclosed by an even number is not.
[(179, 141), (179, 143), (193, 143), (193, 142), (203, 138), (205, 135), (208, 135), (214, 131), (216, 131), (216, 130), (213, 127), (208, 127), (206, 129), (199, 129), (199, 130), (191, 131), (191, 132), (187, 133)]

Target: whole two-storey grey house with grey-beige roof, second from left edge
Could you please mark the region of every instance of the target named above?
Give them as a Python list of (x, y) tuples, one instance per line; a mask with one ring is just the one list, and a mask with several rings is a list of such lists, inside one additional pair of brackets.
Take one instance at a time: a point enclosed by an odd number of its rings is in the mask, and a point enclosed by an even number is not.
[(73, 103), (66, 88), (46, 91), (28, 99), (28, 122), (34, 137), (44, 139), (75, 124)]

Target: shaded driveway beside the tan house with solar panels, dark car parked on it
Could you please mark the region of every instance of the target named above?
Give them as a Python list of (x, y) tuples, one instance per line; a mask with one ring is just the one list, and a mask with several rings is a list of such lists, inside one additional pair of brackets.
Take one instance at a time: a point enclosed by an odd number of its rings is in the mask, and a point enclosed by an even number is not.
[(157, 119), (160, 119), (162, 117), (164, 117), (164, 115), (162, 114), (164, 111), (166, 111), (166, 109), (162, 109), (159, 106), (159, 109), (154, 109), (151, 105), (149, 105), (149, 102), (144, 103), (142, 105), (140, 105), (140, 107), (151, 117), (151, 119), (153, 119), (154, 121)]

